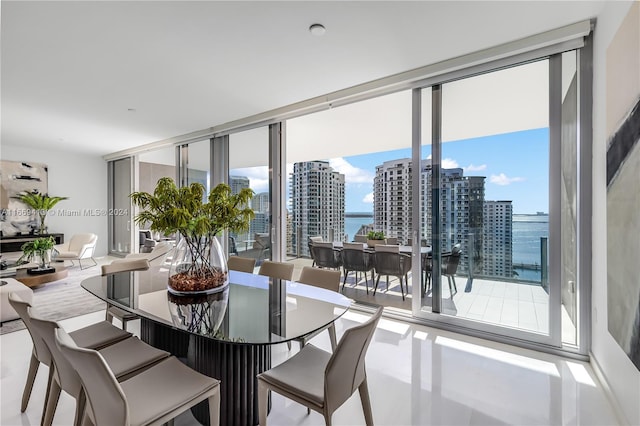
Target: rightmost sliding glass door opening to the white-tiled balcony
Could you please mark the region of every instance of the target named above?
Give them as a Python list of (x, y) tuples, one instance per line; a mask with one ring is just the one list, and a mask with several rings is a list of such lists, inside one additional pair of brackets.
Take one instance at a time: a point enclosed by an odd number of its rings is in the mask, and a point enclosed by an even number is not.
[(575, 344), (575, 58), (414, 92), (429, 247), (414, 315), (558, 347), (564, 328)]

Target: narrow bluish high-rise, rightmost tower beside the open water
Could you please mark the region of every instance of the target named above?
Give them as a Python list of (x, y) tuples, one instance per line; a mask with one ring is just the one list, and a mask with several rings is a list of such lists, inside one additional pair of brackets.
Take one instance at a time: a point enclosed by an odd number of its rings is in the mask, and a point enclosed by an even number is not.
[(487, 276), (512, 277), (511, 201), (485, 201), (482, 236), (482, 272)]

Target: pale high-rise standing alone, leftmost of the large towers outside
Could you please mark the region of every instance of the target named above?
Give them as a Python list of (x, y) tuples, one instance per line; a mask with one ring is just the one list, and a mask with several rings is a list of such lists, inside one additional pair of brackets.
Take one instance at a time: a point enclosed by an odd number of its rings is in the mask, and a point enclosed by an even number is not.
[(344, 239), (344, 175), (327, 161), (295, 163), (291, 174), (292, 237), (287, 252), (309, 256), (309, 237)]

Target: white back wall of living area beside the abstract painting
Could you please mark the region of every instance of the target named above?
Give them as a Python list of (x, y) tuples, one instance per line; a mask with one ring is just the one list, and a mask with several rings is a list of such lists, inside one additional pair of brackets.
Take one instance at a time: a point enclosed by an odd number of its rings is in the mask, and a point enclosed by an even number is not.
[(60, 201), (55, 211), (78, 211), (80, 216), (50, 215), (51, 232), (64, 233), (65, 241), (78, 232), (98, 235), (96, 256), (107, 254), (107, 216), (84, 214), (85, 209), (107, 209), (107, 163), (100, 156), (68, 151), (42, 150), (8, 145), (4, 141), (0, 158), (31, 161), (49, 166), (49, 195), (69, 197)]

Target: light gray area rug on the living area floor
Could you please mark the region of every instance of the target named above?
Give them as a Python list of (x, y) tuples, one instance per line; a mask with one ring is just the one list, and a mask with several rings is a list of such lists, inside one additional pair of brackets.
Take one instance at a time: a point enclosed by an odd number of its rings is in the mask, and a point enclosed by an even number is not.
[[(68, 268), (66, 278), (33, 288), (33, 306), (41, 316), (54, 321), (97, 312), (105, 302), (80, 286), (85, 278), (100, 275), (100, 265), (84, 270), (76, 265)], [(7, 321), (0, 327), (0, 335), (25, 328), (22, 320)]]

